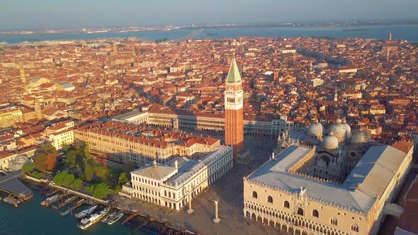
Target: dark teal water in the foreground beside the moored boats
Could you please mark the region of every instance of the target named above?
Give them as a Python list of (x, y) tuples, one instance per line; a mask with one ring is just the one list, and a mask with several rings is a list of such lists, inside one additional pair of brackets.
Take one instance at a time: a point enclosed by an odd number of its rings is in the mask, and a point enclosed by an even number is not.
[[(107, 224), (95, 224), (87, 231), (77, 228), (77, 221), (71, 214), (62, 217), (60, 210), (50, 207), (43, 207), (40, 202), (44, 198), (35, 190), (34, 196), (27, 202), (19, 205), (18, 208), (0, 202), (0, 235), (77, 235), (77, 234), (142, 234), (137, 229), (129, 229), (120, 224), (122, 219), (108, 226)], [(0, 193), (5, 197), (4, 193)]]

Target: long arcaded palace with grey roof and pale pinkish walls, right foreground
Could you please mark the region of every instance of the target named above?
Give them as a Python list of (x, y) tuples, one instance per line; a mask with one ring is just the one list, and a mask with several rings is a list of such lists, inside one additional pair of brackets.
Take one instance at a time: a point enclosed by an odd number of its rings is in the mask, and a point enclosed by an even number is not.
[(290, 145), (244, 177), (244, 215), (293, 234), (376, 234), (412, 164), (412, 143), (370, 147), (344, 182), (315, 176), (315, 147)]

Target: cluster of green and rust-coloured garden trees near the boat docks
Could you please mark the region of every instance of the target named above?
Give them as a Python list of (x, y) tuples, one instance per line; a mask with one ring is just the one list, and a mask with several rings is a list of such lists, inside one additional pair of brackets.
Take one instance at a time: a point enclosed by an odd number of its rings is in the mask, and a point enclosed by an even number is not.
[(40, 147), (33, 163), (24, 165), (22, 171), (98, 199), (119, 193), (122, 185), (128, 182), (128, 174), (123, 169), (108, 166), (106, 161), (92, 157), (89, 147), (83, 142), (74, 147), (64, 146), (60, 153), (50, 144)]

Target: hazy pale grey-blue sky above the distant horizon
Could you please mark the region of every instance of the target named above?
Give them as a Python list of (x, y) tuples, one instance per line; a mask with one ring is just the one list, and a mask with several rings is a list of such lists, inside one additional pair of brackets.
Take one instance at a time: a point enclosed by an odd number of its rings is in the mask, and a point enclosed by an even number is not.
[(417, 19), (418, 0), (1, 0), (0, 30)]

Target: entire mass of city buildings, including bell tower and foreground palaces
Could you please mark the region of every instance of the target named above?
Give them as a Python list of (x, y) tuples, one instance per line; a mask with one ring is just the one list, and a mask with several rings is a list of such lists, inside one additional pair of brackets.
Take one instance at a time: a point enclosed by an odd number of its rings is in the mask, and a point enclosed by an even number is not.
[(407, 41), (126, 38), (0, 52), (1, 169), (84, 142), (137, 168), (122, 195), (181, 210), (244, 156), (244, 136), (269, 137), (271, 160), (244, 177), (246, 217), (337, 235), (375, 234), (400, 214), (390, 201), (418, 143)]

